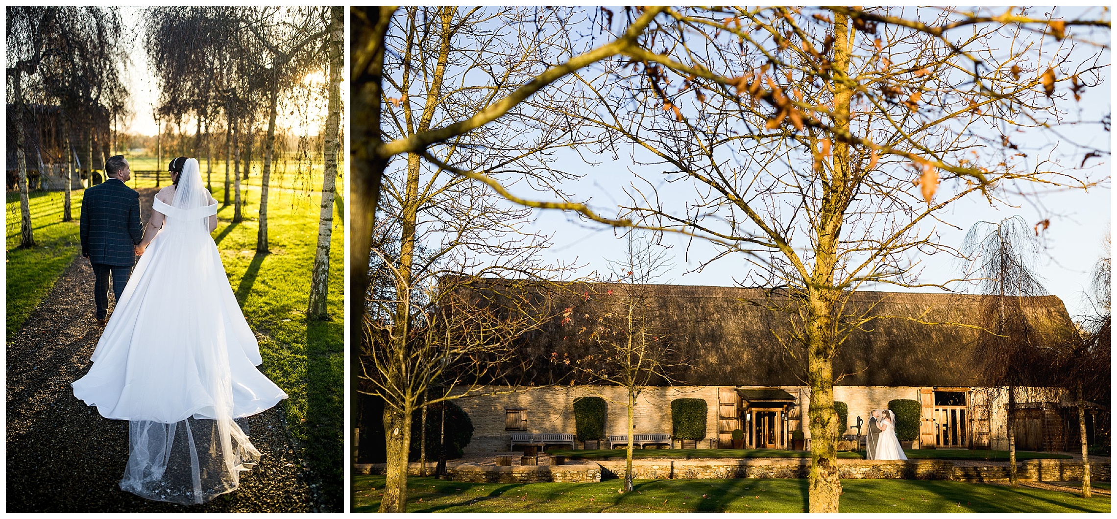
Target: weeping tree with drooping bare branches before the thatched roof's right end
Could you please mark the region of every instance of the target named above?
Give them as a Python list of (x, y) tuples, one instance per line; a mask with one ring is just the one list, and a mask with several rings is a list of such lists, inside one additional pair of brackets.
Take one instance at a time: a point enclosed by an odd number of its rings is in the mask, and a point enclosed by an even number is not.
[(1012, 217), (997, 223), (975, 223), (961, 250), (968, 258), (967, 273), (976, 276), (977, 292), (985, 296), (982, 317), (986, 333), (977, 342), (977, 358), (983, 359), (981, 369), (994, 388), (991, 397), (1008, 398), (1009, 481), (1018, 487), (1016, 403), (1035, 387), (1052, 384), (1052, 371), (1035, 366), (1050, 365), (1061, 356), (1025, 309), (1025, 298), (1048, 295), (1035, 272), (1040, 246), (1033, 228)]

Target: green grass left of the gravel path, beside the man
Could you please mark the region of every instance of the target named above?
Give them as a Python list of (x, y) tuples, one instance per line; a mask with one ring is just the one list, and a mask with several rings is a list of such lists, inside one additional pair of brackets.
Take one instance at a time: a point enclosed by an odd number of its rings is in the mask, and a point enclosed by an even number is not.
[[(19, 193), (9, 192), (6, 199), (7, 239), (7, 337), (22, 328), (31, 310), (46, 297), (58, 276), (69, 267), (82, 252), (78, 236), (78, 218), (82, 215), (80, 190), (70, 193), (71, 222), (63, 222), (63, 192), (31, 192), (28, 194), (31, 209), (31, 227), (36, 246), (20, 249)], [(92, 301), (90, 301), (92, 305)]]

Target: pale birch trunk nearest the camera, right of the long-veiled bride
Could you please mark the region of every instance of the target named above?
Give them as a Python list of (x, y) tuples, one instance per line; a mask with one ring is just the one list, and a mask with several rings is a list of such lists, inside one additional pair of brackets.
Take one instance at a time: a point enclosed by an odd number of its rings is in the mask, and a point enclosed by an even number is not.
[[(314, 268), (311, 273), (311, 298), (307, 304), (308, 319), (325, 320), (326, 300), (330, 294), (330, 243), (333, 240), (334, 228), (334, 194), (337, 182), (337, 154), (341, 151), (338, 127), (341, 126), (341, 80), (344, 67), (342, 50), (342, 7), (331, 7), (330, 37), (330, 104), (326, 115), (326, 127), (323, 146), (322, 203), (318, 209), (318, 247), (314, 253)], [(338, 210), (338, 214), (344, 214)]]

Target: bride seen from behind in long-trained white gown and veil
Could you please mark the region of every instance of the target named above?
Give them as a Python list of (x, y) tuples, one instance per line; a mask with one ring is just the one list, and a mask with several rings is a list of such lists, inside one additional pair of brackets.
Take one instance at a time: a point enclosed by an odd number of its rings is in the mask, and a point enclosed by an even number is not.
[[(173, 171), (181, 173), (174, 177)], [(198, 161), (172, 162), (142, 253), (74, 396), (128, 420), (121, 488), (181, 504), (236, 490), (259, 451), (233, 421), (286, 398), (262, 361), (210, 232), (217, 201)], [(150, 247), (144, 247), (150, 243)]]

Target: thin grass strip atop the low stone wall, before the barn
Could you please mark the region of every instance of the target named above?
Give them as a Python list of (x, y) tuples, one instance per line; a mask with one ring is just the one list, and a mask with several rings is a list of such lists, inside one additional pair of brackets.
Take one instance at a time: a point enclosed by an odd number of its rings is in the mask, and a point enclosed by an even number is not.
[[(570, 451), (548, 450), (551, 454), (562, 454), (572, 460), (623, 460), (624, 449), (596, 450), (596, 451)], [(923, 449), (904, 450), (909, 460), (976, 460), (976, 461), (1009, 461), (1009, 451), (983, 451), (983, 450), (945, 450), (945, 449)], [(632, 451), (633, 459), (661, 458), (672, 460), (693, 459), (742, 459), (742, 458), (810, 458), (809, 451), (781, 451), (776, 449), (637, 449)], [(863, 460), (863, 452), (842, 451), (838, 458), (846, 460)], [(1033, 460), (1037, 458), (1071, 458), (1067, 454), (1053, 452), (1024, 452), (1016, 451), (1016, 460)]]

